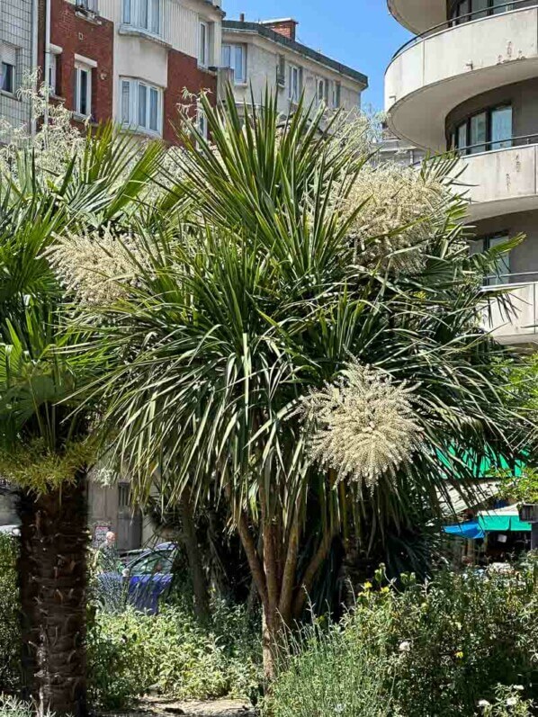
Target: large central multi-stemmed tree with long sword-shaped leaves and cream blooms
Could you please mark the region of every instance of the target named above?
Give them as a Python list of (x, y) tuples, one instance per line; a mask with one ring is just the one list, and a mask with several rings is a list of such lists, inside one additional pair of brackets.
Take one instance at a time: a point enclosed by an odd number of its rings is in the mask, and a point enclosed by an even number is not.
[[(468, 255), (452, 162), (417, 180), (443, 202), (365, 234), (372, 196), (356, 189), (375, 170), (352, 132), (302, 103), (282, 120), (269, 95), (242, 117), (230, 91), (202, 104), (211, 143), (180, 127), (164, 204), (195, 211), (140, 229), (151, 249), (136, 291), (98, 311), (94, 346), (115, 365), (94, 394), (139, 500), (157, 466), (172, 502), (214, 485), (226, 499), (271, 676), (335, 539), (354, 525), (368, 546), (388, 521), (431, 519), (471, 478), (464, 452), (515, 457), (519, 417), (504, 349), (480, 330), (491, 257)], [(405, 217), (401, 196), (374, 214)]]

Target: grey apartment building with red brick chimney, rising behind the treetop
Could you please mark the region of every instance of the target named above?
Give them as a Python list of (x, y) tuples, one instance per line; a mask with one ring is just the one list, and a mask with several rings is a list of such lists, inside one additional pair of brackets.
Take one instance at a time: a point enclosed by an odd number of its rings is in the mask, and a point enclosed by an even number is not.
[(278, 109), (290, 111), (304, 92), (306, 103), (353, 110), (361, 106), (368, 78), (297, 40), (292, 18), (247, 22), (222, 22), (221, 67), (229, 68), (238, 105), (261, 103), (268, 87), (277, 94)]

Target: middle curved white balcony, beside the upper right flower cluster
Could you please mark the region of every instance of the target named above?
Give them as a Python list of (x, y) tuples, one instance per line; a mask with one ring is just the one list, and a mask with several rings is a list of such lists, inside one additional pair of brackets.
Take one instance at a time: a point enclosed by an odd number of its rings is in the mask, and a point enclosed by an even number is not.
[(471, 221), (538, 209), (538, 144), (462, 157), (457, 171)]

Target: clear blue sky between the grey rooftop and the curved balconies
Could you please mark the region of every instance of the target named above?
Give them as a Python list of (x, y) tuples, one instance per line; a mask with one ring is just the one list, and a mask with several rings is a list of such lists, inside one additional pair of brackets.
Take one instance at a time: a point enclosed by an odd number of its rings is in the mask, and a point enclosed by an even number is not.
[(383, 74), (392, 54), (408, 37), (386, 0), (222, 0), (229, 20), (245, 13), (251, 22), (293, 17), (297, 39), (367, 75), (363, 108), (383, 108)]

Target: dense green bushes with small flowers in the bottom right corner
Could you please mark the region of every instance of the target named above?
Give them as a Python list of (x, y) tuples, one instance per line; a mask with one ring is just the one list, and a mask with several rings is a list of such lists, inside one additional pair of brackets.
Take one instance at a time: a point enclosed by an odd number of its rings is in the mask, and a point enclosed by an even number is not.
[[(292, 645), (267, 713), (385, 714), (355, 706), (357, 691), (376, 690), (378, 709), (402, 717), (472, 717), (480, 701), (489, 715), (527, 714), (526, 700), (538, 696), (538, 562), (511, 575), (407, 582), (401, 593), (365, 584), (342, 624)], [(512, 698), (520, 711), (503, 712)]]

